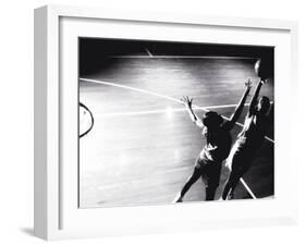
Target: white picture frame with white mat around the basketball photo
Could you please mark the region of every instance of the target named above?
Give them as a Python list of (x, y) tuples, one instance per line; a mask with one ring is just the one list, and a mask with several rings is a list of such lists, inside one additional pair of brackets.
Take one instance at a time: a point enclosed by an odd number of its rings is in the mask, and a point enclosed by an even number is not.
[[(188, 37), (182, 34), (186, 32)], [(74, 79), (77, 76), (74, 73), (77, 57), (72, 42), (79, 35), (273, 45), (277, 49), (278, 100), (274, 198), (256, 202), (245, 200), (78, 209), (77, 138), (73, 135), (77, 122), (73, 106), (66, 98), (76, 97), (77, 94)], [(174, 16), (62, 5), (36, 9), (35, 235), (45, 239), (62, 239), (295, 223), (297, 194), (292, 190), (297, 182), (297, 163), (292, 161), (291, 122), (281, 112), (290, 112), (291, 119), (296, 113), (287, 103), (294, 101), (297, 95), (296, 35), (297, 24), (289, 21), (180, 13)], [(70, 111), (72, 114), (68, 115)]]

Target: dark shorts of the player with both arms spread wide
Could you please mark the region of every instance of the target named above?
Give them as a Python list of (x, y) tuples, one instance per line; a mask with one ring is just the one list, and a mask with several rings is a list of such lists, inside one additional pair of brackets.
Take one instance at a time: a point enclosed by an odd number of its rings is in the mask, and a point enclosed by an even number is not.
[(195, 169), (200, 172), (201, 180), (206, 186), (216, 188), (219, 186), (221, 163), (198, 157)]

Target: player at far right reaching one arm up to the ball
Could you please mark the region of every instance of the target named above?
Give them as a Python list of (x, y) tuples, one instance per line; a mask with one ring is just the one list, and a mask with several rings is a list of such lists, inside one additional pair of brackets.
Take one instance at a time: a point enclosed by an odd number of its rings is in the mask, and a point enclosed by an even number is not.
[[(273, 107), (270, 109), (268, 97), (261, 97), (258, 101), (259, 90), (266, 81), (260, 79), (253, 99), (242, 132), (228, 158), (227, 165), (231, 170), (230, 177), (224, 186), (222, 199), (233, 198), (234, 189), (242, 175), (249, 169), (252, 159), (265, 140), (265, 134), (273, 115)], [(270, 109), (270, 112), (268, 112)]]

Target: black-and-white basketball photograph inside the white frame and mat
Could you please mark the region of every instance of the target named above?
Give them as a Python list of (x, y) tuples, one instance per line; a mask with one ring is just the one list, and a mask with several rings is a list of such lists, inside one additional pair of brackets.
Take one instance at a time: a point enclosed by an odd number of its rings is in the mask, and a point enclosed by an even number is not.
[(79, 37), (77, 107), (79, 208), (273, 198), (273, 47)]

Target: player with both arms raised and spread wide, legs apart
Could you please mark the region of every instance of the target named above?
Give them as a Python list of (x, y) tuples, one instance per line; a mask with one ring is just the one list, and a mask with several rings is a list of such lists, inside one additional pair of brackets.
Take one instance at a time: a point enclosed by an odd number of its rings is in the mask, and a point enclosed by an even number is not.
[(187, 108), (192, 121), (198, 127), (203, 128), (203, 135), (206, 137), (207, 143), (196, 160), (193, 174), (188, 177), (182, 190), (175, 197), (175, 202), (183, 201), (185, 193), (200, 176), (206, 185), (206, 200), (213, 200), (216, 189), (219, 186), (222, 161), (228, 157), (231, 149), (232, 138), (230, 131), (234, 127), (235, 122), (242, 113), (246, 97), (250, 89), (250, 81), (245, 83), (245, 93), (235, 109), (235, 112), (230, 121), (225, 122), (223, 122), (221, 115), (213, 111), (205, 113), (200, 120), (192, 109), (193, 99), (183, 97), (182, 102)]

